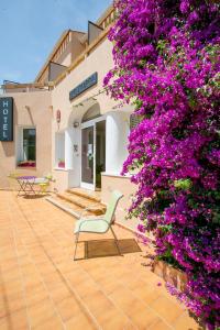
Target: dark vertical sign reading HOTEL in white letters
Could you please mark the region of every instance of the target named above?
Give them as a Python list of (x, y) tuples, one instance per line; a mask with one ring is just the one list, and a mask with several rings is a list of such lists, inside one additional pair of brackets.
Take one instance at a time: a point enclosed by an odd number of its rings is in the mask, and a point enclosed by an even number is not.
[(13, 141), (13, 98), (0, 98), (0, 141)]

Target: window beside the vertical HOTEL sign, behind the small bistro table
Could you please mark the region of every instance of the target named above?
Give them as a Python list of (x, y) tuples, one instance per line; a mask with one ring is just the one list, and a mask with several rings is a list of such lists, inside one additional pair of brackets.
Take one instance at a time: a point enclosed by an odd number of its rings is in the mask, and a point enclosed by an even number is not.
[(19, 129), (18, 166), (36, 166), (36, 130), (34, 128)]

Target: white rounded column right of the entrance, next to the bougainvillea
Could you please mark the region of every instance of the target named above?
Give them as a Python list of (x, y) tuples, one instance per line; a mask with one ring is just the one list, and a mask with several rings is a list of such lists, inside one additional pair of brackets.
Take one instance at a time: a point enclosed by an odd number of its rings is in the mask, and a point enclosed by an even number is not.
[(123, 162), (128, 156), (128, 135), (130, 114), (127, 112), (111, 112), (107, 116), (106, 125), (106, 173), (121, 173)]

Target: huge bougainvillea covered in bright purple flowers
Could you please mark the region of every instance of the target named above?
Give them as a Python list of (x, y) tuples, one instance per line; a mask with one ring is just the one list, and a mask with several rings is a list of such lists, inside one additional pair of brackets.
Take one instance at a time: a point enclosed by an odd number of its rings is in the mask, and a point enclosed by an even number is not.
[(205, 0), (118, 0), (109, 38), (112, 98), (142, 120), (129, 138), (123, 174), (135, 169), (130, 216), (153, 231), (157, 257), (184, 270), (169, 286), (210, 329), (220, 308), (219, 4)]

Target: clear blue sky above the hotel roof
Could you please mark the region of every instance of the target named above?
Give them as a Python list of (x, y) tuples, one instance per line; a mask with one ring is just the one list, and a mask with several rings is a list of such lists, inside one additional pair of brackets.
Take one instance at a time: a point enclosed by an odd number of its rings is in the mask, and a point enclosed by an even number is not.
[(87, 30), (111, 0), (0, 0), (0, 84), (31, 82), (64, 30)]

